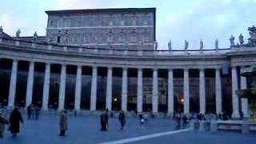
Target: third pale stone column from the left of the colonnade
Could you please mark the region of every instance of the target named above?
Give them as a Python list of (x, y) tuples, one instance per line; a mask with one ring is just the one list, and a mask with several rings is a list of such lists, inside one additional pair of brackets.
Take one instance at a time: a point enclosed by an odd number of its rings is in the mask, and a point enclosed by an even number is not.
[(42, 110), (48, 110), (50, 90), (50, 63), (46, 63), (45, 79), (43, 82)]

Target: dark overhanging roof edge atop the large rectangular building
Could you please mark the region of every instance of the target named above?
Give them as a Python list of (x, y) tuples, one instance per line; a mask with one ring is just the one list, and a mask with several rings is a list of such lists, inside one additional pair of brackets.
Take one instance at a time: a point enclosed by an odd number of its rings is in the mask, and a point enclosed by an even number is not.
[(151, 8), (118, 8), (118, 9), (81, 9), (81, 10), (47, 10), (46, 14), (65, 14), (65, 13), (98, 13), (98, 12), (125, 12), (125, 11), (156, 11), (155, 7)]

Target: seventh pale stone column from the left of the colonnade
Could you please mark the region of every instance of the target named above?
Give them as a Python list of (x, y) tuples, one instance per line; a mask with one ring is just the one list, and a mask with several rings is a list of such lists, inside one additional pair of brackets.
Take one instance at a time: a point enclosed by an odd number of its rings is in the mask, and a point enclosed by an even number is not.
[(112, 74), (112, 67), (108, 67), (106, 78), (106, 109), (108, 110), (112, 110)]

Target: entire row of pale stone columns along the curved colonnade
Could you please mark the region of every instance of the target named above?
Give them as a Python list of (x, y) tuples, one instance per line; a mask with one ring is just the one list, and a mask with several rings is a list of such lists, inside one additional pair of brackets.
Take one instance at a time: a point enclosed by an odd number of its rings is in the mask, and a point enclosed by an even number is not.
[[(238, 118), (238, 96), (235, 93), (238, 90), (238, 74), (236, 67), (232, 67), (232, 106), (234, 118)], [(10, 91), (9, 91), (9, 101), (8, 106), (14, 106), (14, 97), (16, 91), (16, 81), (18, 72), (18, 61), (14, 60), (11, 70), (10, 77)], [(190, 80), (189, 80), (189, 70), (184, 69), (183, 76), (183, 94), (184, 94), (184, 113), (190, 113)], [(97, 76), (98, 67), (93, 66), (92, 68), (92, 81), (91, 81), (91, 93), (90, 93), (90, 110), (96, 110), (96, 98), (97, 98)], [(122, 110), (127, 110), (127, 68), (122, 69)], [(112, 109), (112, 82), (113, 82), (113, 69), (108, 67), (107, 70), (107, 85), (106, 85), (106, 108)], [(33, 83), (34, 83), (34, 62), (30, 62), (29, 74), (27, 79), (26, 87), (26, 106), (29, 106), (32, 102), (33, 93)], [(143, 84), (142, 84), (142, 69), (138, 69), (137, 78), (137, 110), (142, 112), (142, 100), (143, 100)], [(205, 70), (199, 70), (199, 106), (200, 113), (206, 113), (206, 83), (205, 83)], [(246, 88), (246, 78), (241, 77), (241, 88)], [(42, 109), (48, 109), (49, 102), (49, 89), (50, 89), (50, 63), (46, 63), (45, 78), (43, 84), (43, 100)], [(61, 68), (61, 80), (59, 88), (59, 102), (58, 109), (64, 109), (65, 103), (65, 93), (66, 93), (66, 65), (62, 65)], [(153, 70), (153, 95), (152, 95), (152, 111), (154, 113), (158, 112), (158, 69)], [(76, 86), (75, 86), (75, 101), (74, 108), (80, 110), (80, 100), (82, 91), (82, 66), (77, 68), (76, 76)], [(222, 81), (220, 69), (215, 70), (215, 94), (216, 94), (216, 113), (222, 112)], [(174, 113), (174, 74), (173, 70), (168, 71), (168, 112)], [(242, 112), (245, 116), (248, 115), (248, 100), (242, 98)]]

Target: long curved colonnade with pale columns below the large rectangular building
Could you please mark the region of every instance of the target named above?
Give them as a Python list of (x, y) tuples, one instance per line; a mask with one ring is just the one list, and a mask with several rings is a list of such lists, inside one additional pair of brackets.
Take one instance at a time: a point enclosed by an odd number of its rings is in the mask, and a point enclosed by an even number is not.
[(254, 26), (248, 43), (230, 40), (230, 48), (211, 50), (102, 49), (62, 43), (62, 37), (58, 44), (58, 30), (50, 26), (50, 42), (6, 37), (0, 30), (2, 106), (249, 114), (247, 100), (235, 91), (247, 86), (241, 71), (256, 63)]

